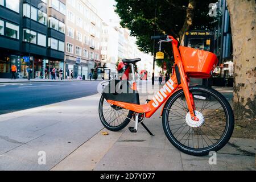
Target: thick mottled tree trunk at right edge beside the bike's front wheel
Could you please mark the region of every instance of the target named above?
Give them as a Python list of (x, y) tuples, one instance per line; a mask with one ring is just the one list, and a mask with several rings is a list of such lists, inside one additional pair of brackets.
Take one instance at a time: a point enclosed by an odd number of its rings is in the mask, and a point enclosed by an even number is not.
[(226, 0), (230, 14), (234, 59), (234, 115), (236, 124), (255, 127), (256, 122), (256, 3)]

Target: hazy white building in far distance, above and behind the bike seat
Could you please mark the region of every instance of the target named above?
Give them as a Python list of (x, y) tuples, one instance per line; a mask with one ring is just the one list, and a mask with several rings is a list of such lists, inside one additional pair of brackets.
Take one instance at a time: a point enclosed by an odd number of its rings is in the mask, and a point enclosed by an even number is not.
[[(111, 24), (111, 26), (109, 25)], [(138, 73), (142, 70), (148, 72), (148, 80), (151, 79), (153, 71), (153, 56), (139, 51), (136, 38), (130, 36), (129, 30), (117, 26), (116, 22), (104, 23), (102, 28), (102, 51), (101, 61), (108, 67), (111, 74), (117, 73), (117, 63), (122, 59), (141, 58), (137, 63)], [(158, 76), (160, 68), (155, 66), (155, 76)], [(105, 72), (105, 78), (109, 72)]]

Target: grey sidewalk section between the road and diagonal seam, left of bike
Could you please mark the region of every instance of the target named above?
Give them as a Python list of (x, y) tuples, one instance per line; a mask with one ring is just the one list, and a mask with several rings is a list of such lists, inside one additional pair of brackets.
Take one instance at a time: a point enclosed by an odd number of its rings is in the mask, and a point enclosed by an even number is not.
[[(0, 169), (51, 169), (103, 128), (96, 117), (99, 97), (1, 115)], [(39, 151), (46, 152), (46, 165), (38, 164)]]

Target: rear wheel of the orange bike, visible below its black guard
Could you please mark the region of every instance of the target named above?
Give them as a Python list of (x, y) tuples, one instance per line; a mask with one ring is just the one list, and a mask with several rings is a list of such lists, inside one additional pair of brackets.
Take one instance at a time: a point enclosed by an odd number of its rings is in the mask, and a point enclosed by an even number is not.
[[(105, 109), (105, 106), (107, 109)], [(122, 130), (129, 124), (131, 117), (133, 117), (133, 111), (110, 106), (103, 95), (98, 105), (98, 114), (100, 115), (101, 123), (110, 131)]]

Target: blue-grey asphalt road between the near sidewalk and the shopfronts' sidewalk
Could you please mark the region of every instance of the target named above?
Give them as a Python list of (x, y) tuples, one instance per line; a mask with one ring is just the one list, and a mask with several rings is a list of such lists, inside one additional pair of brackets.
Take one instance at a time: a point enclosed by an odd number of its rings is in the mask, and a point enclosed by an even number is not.
[(0, 114), (90, 96), (97, 81), (0, 84)]

